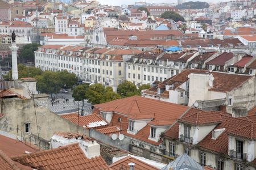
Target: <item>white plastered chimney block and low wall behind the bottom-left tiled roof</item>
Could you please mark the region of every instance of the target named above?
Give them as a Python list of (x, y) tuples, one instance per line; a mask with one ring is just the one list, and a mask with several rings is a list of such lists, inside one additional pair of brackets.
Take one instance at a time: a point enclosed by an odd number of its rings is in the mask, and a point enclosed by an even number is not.
[(75, 134), (73, 138), (71, 138), (71, 135), (68, 135), (69, 138), (65, 138), (62, 135), (53, 135), (51, 137), (51, 146), (52, 148), (57, 148), (60, 146), (70, 145), (72, 143), (79, 143), (79, 146), (81, 147), (82, 151), (84, 151), (84, 154), (87, 158), (91, 159), (95, 156), (100, 156), (100, 145), (97, 143), (97, 141), (94, 141), (92, 139), (82, 139), (82, 135), (78, 137), (79, 135), (76, 133), (70, 133)]

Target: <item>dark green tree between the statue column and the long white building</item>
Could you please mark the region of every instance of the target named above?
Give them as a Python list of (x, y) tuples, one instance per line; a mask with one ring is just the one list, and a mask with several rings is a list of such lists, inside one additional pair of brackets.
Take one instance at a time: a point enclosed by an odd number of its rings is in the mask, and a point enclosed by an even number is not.
[(35, 54), (34, 51), (38, 50), (38, 46), (41, 46), (37, 43), (27, 44), (22, 47), (20, 50), (18, 60), (20, 63), (32, 62), (35, 63)]

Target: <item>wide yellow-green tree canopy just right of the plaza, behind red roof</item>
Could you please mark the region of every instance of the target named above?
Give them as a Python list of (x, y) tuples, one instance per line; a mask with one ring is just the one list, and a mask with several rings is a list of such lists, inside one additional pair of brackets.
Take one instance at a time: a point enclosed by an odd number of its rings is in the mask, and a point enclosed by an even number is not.
[(85, 97), (92, 105), (121, 98), (118, 94), (113, 92), (112, 87), (105, 88), (102, 84), (99, 83), (90, 85), (86, 91)]

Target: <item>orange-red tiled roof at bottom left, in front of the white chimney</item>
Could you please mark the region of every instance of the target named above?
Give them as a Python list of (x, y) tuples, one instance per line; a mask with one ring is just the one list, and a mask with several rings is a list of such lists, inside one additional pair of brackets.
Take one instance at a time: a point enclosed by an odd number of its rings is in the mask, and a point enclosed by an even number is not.
[(79, 143), (13, 156), (11, 159), (35, 169), (110, 169), (101, 156), (86, 158)]

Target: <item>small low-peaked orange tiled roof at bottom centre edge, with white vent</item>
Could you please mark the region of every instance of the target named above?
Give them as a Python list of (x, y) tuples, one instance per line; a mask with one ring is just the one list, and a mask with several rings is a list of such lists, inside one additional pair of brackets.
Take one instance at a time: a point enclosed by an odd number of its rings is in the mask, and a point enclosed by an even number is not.
[(118, 160), (117, 162), (111, 164), (110, 168), (112, 168), (113, 170), (119, 170), (121, 168), (129, 169), (130, 168), (128, 165), (129, 163), (135, 163), (134, 170), (142, 170), (142, 169), (156, 170), (156, 169), (158, 169), (158, 168), (156, 168), (150, 164), (144, 163), (141, 160), (136, 159), (132, 156), (126, 156), (125, 158)]

